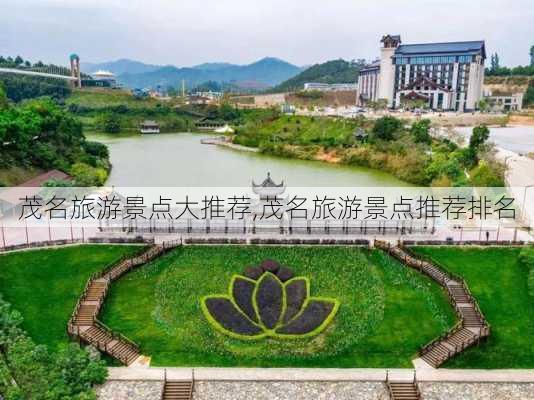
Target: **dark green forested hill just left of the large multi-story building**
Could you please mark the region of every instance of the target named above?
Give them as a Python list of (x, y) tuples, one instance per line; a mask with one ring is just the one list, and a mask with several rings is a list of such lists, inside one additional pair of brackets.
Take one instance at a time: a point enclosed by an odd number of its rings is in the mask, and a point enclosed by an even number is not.
[(315, 64), (300, 74), (276, 86), (273, 92), (301, 90), (306, 82), (320, 83), (355, 83), (362, 63), (342, 59)]

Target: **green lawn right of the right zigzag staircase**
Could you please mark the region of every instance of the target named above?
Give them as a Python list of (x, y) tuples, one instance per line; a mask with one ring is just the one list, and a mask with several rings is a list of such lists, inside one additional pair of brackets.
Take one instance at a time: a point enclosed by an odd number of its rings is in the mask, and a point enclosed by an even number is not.
[(491, 324), (487, 343), (451, 360), (447, 368), (534, 368), (534, 298), (519, 248), (414, 247), (466, 280)]

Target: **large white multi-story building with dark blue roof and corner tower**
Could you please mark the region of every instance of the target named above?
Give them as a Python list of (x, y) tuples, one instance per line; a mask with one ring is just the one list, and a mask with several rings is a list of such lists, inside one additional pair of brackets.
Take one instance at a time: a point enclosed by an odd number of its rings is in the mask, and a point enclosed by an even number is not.
[(381, 40), (381, 57), (360, 71), (361, 105), (384, 99), (389, 108), (420, 100), (436, 110), (471, 111), (482, 98), (484, 41), (401, 44)]

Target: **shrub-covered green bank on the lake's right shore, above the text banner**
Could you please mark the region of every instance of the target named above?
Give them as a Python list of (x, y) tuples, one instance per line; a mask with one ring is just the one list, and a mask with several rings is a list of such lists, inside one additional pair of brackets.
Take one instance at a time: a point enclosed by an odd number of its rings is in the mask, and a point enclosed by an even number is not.
[[(430, 125), (417, 121), (410, 127), (392, 117), (277, 116), (247, 121), (237, 129), (234, 143), (282, 157), (378, 169), (423, 186), (502, 185), (502, 168), (484, 146), (469, 153), (449, 140), (432, 138)], [(363, 140), (355, 137), (358, 129), (367, 135)]]

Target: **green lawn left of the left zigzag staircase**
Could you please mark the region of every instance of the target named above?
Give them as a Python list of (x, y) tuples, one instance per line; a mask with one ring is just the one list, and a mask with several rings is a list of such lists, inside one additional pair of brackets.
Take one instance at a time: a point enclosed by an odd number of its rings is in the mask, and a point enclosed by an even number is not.
[(0, 255), (0, 294), (23, 328), (50, 349), (68, 340), (67, 322), (87, 279), (139, 246), (84, 245)]

